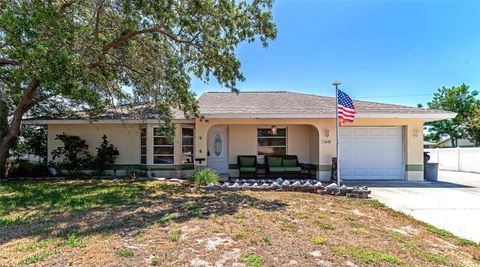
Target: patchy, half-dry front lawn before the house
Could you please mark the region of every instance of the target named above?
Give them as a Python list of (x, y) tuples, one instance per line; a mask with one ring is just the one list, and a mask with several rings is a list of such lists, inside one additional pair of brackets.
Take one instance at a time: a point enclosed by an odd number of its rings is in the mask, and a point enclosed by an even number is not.
[(161, 181), (0, 182), (0, 266), (475, 266), (480, 246), (374, 200)]

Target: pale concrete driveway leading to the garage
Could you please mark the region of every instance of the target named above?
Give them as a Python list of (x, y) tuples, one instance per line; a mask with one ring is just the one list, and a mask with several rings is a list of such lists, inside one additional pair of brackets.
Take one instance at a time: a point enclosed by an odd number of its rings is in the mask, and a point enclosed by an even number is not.
[(480, 242), (480, 174), (440, 171), (438, 182), (366, 184), (371, 197), (387, 206)]

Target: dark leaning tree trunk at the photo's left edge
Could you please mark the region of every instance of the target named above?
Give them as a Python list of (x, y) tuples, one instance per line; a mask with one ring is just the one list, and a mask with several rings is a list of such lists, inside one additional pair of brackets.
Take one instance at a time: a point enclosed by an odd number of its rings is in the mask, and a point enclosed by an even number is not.
[[(5, 129), (4, 125), (0, 125), (1, 129), (1, 146), (0, 146), (0, 179), (5, 178), (6, 176), (6, 163), (8, 158), (8, 152), (10, 148), (15, 144), (17, 140), (18, 134), (20, 133), (20, 125), (22, 124), (23, 115), (32, 107), (34, 104), (34, 97), (37, 93), (37, 89), (40, 86), (40, 81), (37, 78), (33, 78), (30, 81), (30, 84), (25, 89), (22, 98), (18, 102), (17, 107), (15, 108), (15, 112), (13, 113), (12, 120), (10, 122), (10, 126), (8, 125), (7, 129)], [(2, 91), (2, 99), (3, 99), (3, 91)], [(4, 102), (4, 101), (2, 101)], [(3, 110), (2, 110), (3, 111)], [(2, 116), (8, 117), (8, 109), (6, 109), (6, 114), (2, 112), (0, 114), (0, 120), (2, 120)]]

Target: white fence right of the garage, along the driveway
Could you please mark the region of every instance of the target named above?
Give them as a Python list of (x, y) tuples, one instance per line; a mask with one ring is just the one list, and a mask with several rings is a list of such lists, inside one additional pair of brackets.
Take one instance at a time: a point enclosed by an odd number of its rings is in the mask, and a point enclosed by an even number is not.
[(425, 149), (440, 170), (480, 173), (480, 147)]

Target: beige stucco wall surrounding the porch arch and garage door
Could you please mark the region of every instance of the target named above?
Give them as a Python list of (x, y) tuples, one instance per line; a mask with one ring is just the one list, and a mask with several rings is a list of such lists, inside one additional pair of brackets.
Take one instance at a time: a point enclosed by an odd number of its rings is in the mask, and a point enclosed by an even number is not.
[[(404, 129), (405, 179), (423, 180), (423, 120), (358, 118), (354, 126), (402, 126)], [(260, 125), (288, 126), (288, 153), (298, 154), (301, 161), (319, 165), (319, 177), (330, 177), (331, 160), (336, 154), (335, 119), (203, 119), (196, 121), (196, 158), (207, 158), (207, 133), (213, 125), (229, 126), (229, 162), (236, 162), (238, 154), (255, 154), (256, 132)], [(312, 131), (315, 130), (315, 131)], [(237, 140), (237, 141), (236, 141)], [(238, 141), (240, 140), (240, 141)], [(307, 141), (308, 140), (308, 141)], [(293, 142), (293, 143), (292, 143)], [(204, 161), (202, 165), (206, 165)]]

